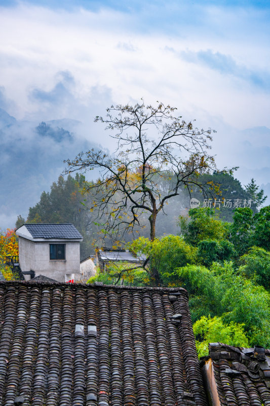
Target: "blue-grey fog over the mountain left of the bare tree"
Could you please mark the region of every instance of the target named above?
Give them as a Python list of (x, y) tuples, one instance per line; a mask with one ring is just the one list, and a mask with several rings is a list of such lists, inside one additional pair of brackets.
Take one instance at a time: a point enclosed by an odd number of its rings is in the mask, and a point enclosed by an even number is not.
[[(21, 121), (0, 109), (0, 225), (13, 227), (18, 214), (39, 200), (64, 170), (63, 159), (97, 147), (78, 138), (80, 122)], [(74, 131), (74, 132), (73, 132)]]

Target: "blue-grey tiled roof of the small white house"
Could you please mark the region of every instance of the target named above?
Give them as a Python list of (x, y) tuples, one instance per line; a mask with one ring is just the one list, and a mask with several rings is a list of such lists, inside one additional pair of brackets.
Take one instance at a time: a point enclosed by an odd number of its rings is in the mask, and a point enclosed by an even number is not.
[(67, 224), (23, 224), (32, 238), (82, 239), (80, 232), (71, 223)]

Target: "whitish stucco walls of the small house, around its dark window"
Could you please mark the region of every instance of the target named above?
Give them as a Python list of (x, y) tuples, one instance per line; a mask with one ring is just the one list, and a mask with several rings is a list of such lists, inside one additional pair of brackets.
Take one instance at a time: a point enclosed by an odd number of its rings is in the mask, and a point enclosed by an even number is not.
[[(50, 260), (50, 244), (65, 244), (66, 259)], [(66, 274), (80, 273), (80, 242), (32, 242), (19, 237), (19, 263), (22, 272), (33, 270), (36, 276), (65, 282)]]

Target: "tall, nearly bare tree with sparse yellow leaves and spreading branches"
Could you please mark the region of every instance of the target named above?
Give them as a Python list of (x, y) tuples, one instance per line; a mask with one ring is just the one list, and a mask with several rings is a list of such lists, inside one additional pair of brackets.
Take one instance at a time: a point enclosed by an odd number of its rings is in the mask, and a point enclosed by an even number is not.
[[(145, 106), (143, 100), (135, 106), (111, 106), (105, 118), (97, 116), (95, 121), (105, 123), (113, 132), (115, 153), (92, 149), (65, 161), (66, 173), (99, 168), (100, 178), (86, 184), (85, 191), (94, 196), (90, 210), (95, 210), (98, 218), (106, 218), (105, 233), (134, 231), (141, 225), (141, 216), (148, 213), (153, 241), (158, 213), (182, 186), (189, 194), (197, 186), (204, 196), (214, 187), (200, 180), (203, 173), (216, 170), (208, 153), (212, 130), (195, 128), (181, 116), (175, 117), (175, 110), (162, 103)], [(162, 187), (161, 179), (166, 181)]]

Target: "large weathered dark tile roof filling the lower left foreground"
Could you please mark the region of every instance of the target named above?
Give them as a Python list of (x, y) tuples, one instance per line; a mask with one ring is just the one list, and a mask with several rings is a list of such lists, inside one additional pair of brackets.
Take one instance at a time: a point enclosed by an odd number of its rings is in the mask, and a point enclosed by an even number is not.
[(0, 282), (0, 404), (206, 406), (187, 292)]

